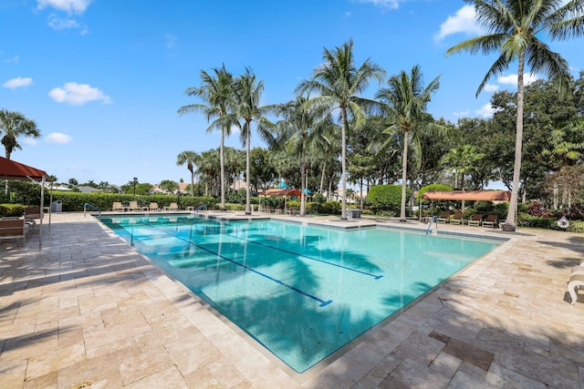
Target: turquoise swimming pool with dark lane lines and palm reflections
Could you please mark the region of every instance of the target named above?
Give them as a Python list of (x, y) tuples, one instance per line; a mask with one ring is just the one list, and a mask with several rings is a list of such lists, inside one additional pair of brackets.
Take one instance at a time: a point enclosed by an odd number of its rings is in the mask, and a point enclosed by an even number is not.
[(193, 215), (101, 221), (298, 373), (500, 243)]

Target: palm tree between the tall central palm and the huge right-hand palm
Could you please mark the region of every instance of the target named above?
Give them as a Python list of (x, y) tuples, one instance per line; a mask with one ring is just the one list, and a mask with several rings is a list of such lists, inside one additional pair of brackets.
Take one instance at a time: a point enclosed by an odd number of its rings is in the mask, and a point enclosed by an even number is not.
[(433, 123), (426, 113), (426, 107), (433, 93), (440, 87), (440, 76), (435, 77), (427, 87), (423, 87), (423, 75), (419, 66), (412, 67), (408, 75), (401, 71), (388, 81), (388, 87), (381, 88), (376, 98), (380, 98), (383, 110), (390, 119), (390, 126), (383, 132), (399, 134), (403, 146), (401, 154), (401, 212), (400, 221), (405, 221), (405, 197), (408, 181), (408, 148), (418, 131), (443, 131), (443, 126)]

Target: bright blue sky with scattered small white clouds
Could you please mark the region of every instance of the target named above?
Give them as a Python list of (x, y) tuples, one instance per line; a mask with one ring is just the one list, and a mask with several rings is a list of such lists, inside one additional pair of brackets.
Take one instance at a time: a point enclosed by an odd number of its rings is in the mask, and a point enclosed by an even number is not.
[[(176, 114), (199, 102), (183, 92), (200, 85), (201, 69), (250, 67), (265, 83), (263, 104), (283, 103), (323, 47), (350, 38), (358, 65), (370, 58), (388, 77), (419, 65), (426, 83), (442, 75), (434, 118), (488, 117), (493, 92), (516, 89), (516, 69), (474, 97), (495, 57), (445, 56), (480, 34), (473, 12), (457, 0), (2, 0), (0, 108), (42, 133), (20, 138), (11, 158), (59, 181), (188, 182), (176, 156), (219, 146), (201, 115)], [(581, 39), (550, 46), (575, 76), (584, 68)], [(236, 134), (227, 144), (241, 147)]]

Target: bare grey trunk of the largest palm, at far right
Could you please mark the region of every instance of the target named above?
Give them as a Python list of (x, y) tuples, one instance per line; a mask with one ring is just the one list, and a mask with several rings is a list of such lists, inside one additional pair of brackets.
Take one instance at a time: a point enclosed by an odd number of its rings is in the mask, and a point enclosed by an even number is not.
[(517, 70), (517, 124), (515, 139), (515, 163), (513, 165), (513, 188), (511, 189), (511, 200), (509, 200), (509, 210), (507, 212), (503, 230), (516, 230), (516, 209), (517, 194), (519, 192), (519, 173), (521, 171), (521, 148), (523, 145), (523, 70), (525, 67), (526, 54), (524, 51), (519, 55), (519, 68)]

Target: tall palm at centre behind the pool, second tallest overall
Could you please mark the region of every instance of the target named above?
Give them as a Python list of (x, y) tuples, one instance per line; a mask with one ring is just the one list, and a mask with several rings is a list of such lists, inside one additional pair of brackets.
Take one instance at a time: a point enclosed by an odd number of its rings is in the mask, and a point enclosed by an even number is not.
[[(373, 100), (360, 97), (370, 85), (371, 78), (381, 82), (385, 71), (367, 59), (359, 68), (355, 66), (353, 41), (349, 40), (334, 51), (324, 49), (325, 63), (315, 68), (313, 78), (305, 80), (297, 87), (300, 94), (306, 91), (318, 92), (318, 97), (311, 99), (312, 104), (327, 107), (328, 112), (339, 109), (341, 124), (341, 170), (343, 193), (347, 190), (347, 134), (349, 120), (355, 120), (355, 127), (360, 128), (366, 121), (365, 109), (375, 107)], [(347, 219), (347, 200), (342, 198), (340, 218)]]

